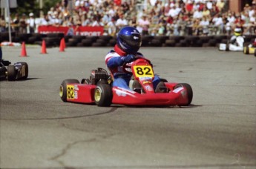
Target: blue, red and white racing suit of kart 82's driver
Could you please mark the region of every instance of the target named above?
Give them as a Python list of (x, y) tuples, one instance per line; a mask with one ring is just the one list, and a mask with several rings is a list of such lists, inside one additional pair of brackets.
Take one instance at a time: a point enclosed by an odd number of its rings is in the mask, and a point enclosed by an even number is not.
[[(113, 87), (122, 87), (127, 90), (131, 90), (129, 88), (129, 82), (131, 80), (131, 74), (125, 73), (123, 70), (123, 62), (122, 57), (127, 56), (128, 53), (122, 51), (117, 45), (115, 45), (114, 50), (111, 50), (105, 56), (105, 64), (107, 65), (108, 69), (111, 71), (111, 74), (114, 76)], [(137, 53), (136, 56), (143, 57), (142, 53)], [(128, 64), (132, 64), (128, 63)], [(160, 82), (160, 77), (154, 75), (153, 79), (153, 86), (154, 89), (157, 87), (157, 84)]]

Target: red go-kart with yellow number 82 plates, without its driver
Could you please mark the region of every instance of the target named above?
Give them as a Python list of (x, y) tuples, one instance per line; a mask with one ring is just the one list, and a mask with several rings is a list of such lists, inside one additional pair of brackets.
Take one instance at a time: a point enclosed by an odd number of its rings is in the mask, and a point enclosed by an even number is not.
[(154, 71), (150, 61), (145, 58), (136, 59), (124, 70), (132, 73), (131, 90), (112, 87), (112, 75), (98, 68), (91, 70), (90, 79), (66, 79), (59, 87), (59, 96), (63, 102), (76, 102), (108, 107), (113, 105), (140, 106), (187, 106), (191, 104), (193, 91), (189, 84), (171, 83), (161, 79), (160, 87), (155, 91), (152, 80)]

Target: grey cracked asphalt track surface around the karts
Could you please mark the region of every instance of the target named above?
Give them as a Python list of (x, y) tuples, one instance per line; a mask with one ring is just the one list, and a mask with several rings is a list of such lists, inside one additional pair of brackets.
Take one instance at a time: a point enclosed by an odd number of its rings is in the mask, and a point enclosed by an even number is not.
[(0, 82), (0, 168), (256, 168), (256, 57), (142, 47), (154, 72), (191, 84), (188, 107), (96, 107), (59, 98), (64, 79), (105, 68), (111, 48), (4, 47), (25, 81)]

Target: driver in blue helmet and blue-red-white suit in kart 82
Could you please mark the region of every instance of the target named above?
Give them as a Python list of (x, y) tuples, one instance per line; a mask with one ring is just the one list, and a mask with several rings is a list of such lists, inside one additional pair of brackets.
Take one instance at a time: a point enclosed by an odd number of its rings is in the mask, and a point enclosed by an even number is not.
[[(131, 74), (125, 73), (122, 65), (131, 64), (134, 62), (136, 57), (143, 57), (142, 53), (139, 53), (141, 44), (141, 36), (139, 31), (134, 27), (122, 27), (119, 30), (116, 38), (116, 45), (114, 50), (111, 50), (107, 56), (105, 56), (105, 64), (114, 76), (114, 87), (122, 87), (127, 90), (133, 90), (129, 87), (129, 82), (131, 80)], [(159, 84), (159, 85), (157, 85)], [(153, 86), (156, 92), (158, 87), (163, 87), (164, 83), (160, 83), (160, 77), (154, 75)]]

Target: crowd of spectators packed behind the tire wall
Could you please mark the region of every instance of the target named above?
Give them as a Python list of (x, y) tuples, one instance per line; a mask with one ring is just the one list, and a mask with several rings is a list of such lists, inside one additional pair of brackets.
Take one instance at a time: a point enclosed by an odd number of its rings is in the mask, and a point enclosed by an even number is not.
[[(115, 36), (120, 27), (137, 27), (142, 35), (209, 36), (232, 34), (242, 27), (244, 34), (255, 34), (256, 0), (240, 13), (229, 10), (228, 0), (67, 0), (57, 3), (43, 18), (33, 13), (16, 14), (10, 19), (12, 31), (35, 33), (40, 25), (75, 27), (102, 26), (105, 35)], [(1, 16), (0, 32), (8, 31), (8, 19)]]

